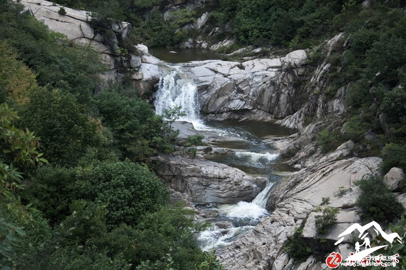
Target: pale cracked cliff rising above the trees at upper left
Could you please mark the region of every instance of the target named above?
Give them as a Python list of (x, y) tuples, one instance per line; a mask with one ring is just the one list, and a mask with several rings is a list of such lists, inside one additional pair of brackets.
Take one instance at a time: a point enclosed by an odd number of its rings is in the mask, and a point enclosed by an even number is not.
[(141, 59), (136, 54), (124, 53), (122, 44), (131, 31), (127, 22), (113, 22), (103, 35), (91, 25), (91, 16), (86, 11), (64, 8), (43, 0), (22, 0), (20, 2), (38, 20), (52, 30), (64, 34), (67, 40), (83, 46), (91, 46), (100, 53), (108, 71), (102, 79), (117, 80), (124, 74), (137, 79)]

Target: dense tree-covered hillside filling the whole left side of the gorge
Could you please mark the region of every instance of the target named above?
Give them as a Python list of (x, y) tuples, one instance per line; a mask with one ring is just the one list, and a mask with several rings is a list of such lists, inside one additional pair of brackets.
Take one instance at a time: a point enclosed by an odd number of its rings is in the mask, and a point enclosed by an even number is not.
[[(220, 267), (148, 158), (173, 134), (97, 54), (0, 1), (0, 267)], [(205, 266), (206, 265), (206, 266)]]

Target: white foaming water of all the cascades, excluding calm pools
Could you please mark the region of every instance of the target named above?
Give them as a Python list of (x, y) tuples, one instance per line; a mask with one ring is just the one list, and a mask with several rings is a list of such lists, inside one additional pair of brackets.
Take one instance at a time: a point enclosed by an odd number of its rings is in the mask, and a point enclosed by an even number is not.
[[(215, 130), (202, 124), (199, 117), (199, 104), (197, 97), (197, 87), (193, 80), (188, 79), (186, 75), (177, 69), (170, 75), (161, 77), (159, 89), (156, 94), (155, 111), (159, 115), (164, 114), (165, 109), (171, 109), (175, 106), (181, 106), (186, 116), (180, 120), (193, 123), (195, 129)], [(225, 131), (216, 130), (219, 133), (227, 134)], [(229, 134), (227, 134), (229, 135)], [(235, 136), (235, 134), (234, 134)], [(269, 152), (236, 152), (235, 156), (246, 159), (250, 166), (260, 167), (269, 166), (269, 163), (275, 160), (278, 155)], [(268, 215), (265, 209), (266, 199), (272, 184), (261, 191), (252, 202), (240, 201), (237, 204), (218, 205), (214, 211), (219, 213), (219, 217), (233, 223), (233, 227), (220, 229), (217, 226), (200, 233), (199, 240), (204, 250), (210, 250), (221, 246), (229, 245), (247, 231), (252, 230), (260, 218)]]

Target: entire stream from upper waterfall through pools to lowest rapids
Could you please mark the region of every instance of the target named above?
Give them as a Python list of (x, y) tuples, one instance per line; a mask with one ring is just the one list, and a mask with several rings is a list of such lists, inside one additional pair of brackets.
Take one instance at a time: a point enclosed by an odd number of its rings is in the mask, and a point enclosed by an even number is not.
[(198, 241), (203, 250), (218, 249), (230, 245), (233, 241), (251, 231), (259, 220), (268, 216), (265, 209), (269, 191), (274, 183), (281, 179), (278, 173), (275, 149), (264, 142), (264, 138), (290, 135), (294, 131), (272, 123), (236, 122), (236, 121), (202, 121), (199, 115), (197, 87), (188, 79), (181, 68), (159, 82), (156, 94), (155, 110), (163, 114), (165, 109), (182, 106), (186, 116), (180, 120), (193, 123), (195, 129), (215, 131), (220, 135), (240, 137), (244, 140), (220, 142), (216, 146), (233, 149), (232, 153), (214, 155), (210, 160), (239, 168), (247, 174), (265, 177), (268, 184), (252, 202), (240, 201), (237, 204), (195, 204), (204, 211), (215, 213), (212, 227), (199, 234)]

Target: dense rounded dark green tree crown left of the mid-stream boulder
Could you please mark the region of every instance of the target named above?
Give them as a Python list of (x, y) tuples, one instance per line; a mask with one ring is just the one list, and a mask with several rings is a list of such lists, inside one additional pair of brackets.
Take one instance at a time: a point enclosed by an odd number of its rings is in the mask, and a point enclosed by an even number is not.
[(107, 223), (137, 224), (139, 218), (156, 211), (169, 199), (167, 188), (147, 168), (128, 161), (102, 162), (83, 171), (87, 184), (83, 196), (107, 205)]

